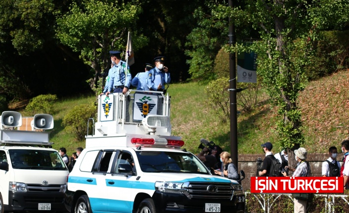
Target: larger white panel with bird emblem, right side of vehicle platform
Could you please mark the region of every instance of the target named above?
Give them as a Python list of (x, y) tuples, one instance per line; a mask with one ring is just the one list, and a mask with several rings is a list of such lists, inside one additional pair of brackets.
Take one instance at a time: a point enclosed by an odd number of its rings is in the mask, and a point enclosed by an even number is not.
[(157, 115), (158, 96), (134, 93), (133, 120), (141, 121), (147, 115)]

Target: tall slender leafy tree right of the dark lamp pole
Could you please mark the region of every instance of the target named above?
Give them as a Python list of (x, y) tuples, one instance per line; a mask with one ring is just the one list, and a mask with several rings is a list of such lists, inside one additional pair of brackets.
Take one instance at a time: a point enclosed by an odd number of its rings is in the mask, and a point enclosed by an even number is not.
[[(329, 22), (348, 21), (345, 18), (348, 17), (348, 2), (246, 0), (244, 3), (244, 9), (221, 4), (212, 13), (220, 19), (230, 16), (237, 27), (252, 24), (259, 31), (262, 41), (255, 42), (250, 49), (258, 53), (258, 74), (278, 106), (280, 120), (276, 132), (280, 145), (293, 151), (305, 142), (297, 98), (305, 87), (304, 72), (309, 65), (312, 42), (317, 31), (327, 28)], [(227, 50), (249, 51), (242, 45), (230, 46)], [(291, 150), (288, 153), (290, 159), (294, 159)], [(294, 168), (296, 162), (291, 163)]]

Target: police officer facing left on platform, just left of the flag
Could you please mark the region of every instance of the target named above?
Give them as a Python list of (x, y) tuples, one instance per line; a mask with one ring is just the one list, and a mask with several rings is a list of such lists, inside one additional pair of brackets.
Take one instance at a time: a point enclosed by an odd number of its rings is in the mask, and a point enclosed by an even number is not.
[[(113, 67), (109, 72), (108, 91), (105, 94), (107, 96), (111, 92), (122, 92), (125, 94), (131, 85), (130, 67), (125, 61), (121, 60), (121, 52), (109, 51), (109, 53)], [(127, 75), (126, 70), (128, 70)]]

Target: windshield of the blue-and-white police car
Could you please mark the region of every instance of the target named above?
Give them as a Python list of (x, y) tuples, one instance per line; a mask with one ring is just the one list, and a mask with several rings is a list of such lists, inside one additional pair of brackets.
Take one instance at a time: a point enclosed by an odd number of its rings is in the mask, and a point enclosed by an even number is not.
[(137, 151), (143, 172), (186, 172), (209, 174), (206, 167), (191, 153)]

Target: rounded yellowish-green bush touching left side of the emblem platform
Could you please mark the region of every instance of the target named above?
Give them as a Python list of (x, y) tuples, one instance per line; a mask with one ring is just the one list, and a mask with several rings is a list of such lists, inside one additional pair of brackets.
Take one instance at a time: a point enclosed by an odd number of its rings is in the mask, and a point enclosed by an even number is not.
[(96, 107), (94, 104), (81, 104), (75, 106), (68, 112), (63, 118), (63, 126), (68, 132), (75, 135), (75, 138), (79, 141), (85, 139), (87, 133), (87, 120), (96, 117)]

